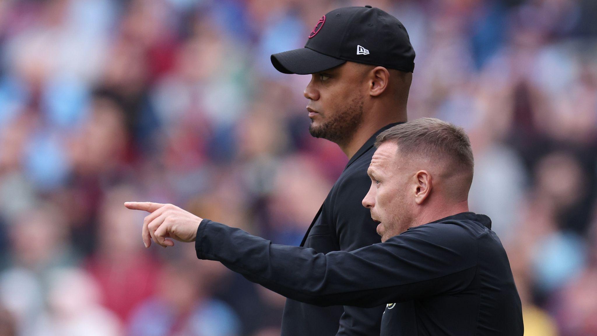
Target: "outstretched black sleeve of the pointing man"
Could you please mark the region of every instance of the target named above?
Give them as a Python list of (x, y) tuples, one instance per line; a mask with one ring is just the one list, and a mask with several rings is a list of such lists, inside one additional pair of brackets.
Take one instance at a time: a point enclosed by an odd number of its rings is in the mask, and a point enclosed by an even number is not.
[(199, 259), (220, 261), (293, 300), (365, 308), (457, 292), (472, 281), (477, 255), (474, 237), (450, 224), (425, 224), (385, 243), (323, 254), (204, 219), (195, 249)]

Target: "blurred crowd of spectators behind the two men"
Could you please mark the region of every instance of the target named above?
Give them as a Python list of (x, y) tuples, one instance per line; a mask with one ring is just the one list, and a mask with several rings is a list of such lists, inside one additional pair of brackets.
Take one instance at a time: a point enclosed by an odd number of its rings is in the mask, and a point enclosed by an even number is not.
[(525, 335), (597, 335), (595, 0), (1, 0), (0, 335), (279, 335), (284, 298), (122, 203), (298, 245), (347, 158), (269, 56), (365, 4), (410, 33), (410, 119), (472, 139)]

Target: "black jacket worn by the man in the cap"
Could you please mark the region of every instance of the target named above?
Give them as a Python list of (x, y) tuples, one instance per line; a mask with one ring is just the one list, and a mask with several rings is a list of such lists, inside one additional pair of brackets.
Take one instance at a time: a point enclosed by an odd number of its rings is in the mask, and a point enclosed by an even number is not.
[[(377, 223), (361, 201), (371, 186), (367, 169), (375, 152), (378, 130), (353, 155), (311, 222), (300, 246), (316, 252), (354, 251), (380, 242)], [(374, 308), (317, 307), (286, 300), (281, 336), (364, 336), (378, 335), (383, 306)]]

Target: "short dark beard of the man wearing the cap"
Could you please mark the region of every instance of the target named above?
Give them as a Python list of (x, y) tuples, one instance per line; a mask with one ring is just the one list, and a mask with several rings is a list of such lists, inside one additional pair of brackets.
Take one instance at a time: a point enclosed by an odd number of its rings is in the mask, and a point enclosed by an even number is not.
[(315, 138), (324, 138), (343, 145), (350, 142), (363, 120), (364, 102), (355, 97), (346, 109), (337, 111), (336, 115), (324, 121), (321, 126), (313, 127), (313, 120), (309, 125), (309, 133)]

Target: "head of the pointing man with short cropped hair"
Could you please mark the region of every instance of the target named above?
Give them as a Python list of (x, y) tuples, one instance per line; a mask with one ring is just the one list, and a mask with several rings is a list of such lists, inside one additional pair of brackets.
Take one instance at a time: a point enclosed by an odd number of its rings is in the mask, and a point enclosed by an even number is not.
[[(475, 163), (469, 138), (463, 129), (439, 119), (421, 118), (380, 133), (375, 146), (377, 151), (371, 158), (367, 171), (374, 184), (371, 185), (362, 204), (371, 210), (371, 218), (374, 221), (379, 221), (377, 212), (391, 212), (395, 216), (392, 221), (395, 227), (387, 228), (390, 230), (389, 233), (385, 232), (383, 223), (378, 225), (377, 233), (381, 235), (382, 242), (410, 227), (441, 218), (446, 213), (468, 211), (468, 196)], [(395, 155), (393, 151), (398, 151), (399, 161), (392, 160)], [(378, 169), (382, 164), (395, 164), (395, 167)], [(435, 190), (433, 197), (424, 198), (426, 206), (417, 207), (419, 204), (414, 204), (416, 209), (405, 209), (413, 205), (406, 199), (394, 202), (393, 206), (385, 206), (383, 203), (385, 194), (393, 197), (404, 196), (402, 188), (408, 188), (408, 183), (413, 182), (404, 180), (404, 170), (410, 169), (411, 173), (414, 173), (417, 167), (425, 167), (425, 170), (417, 172), (411, 176), (411, 179), (418, 179), (417, 181), (421, 183), (426, 182), (430, 186), (424, 185), (424, 187), (433, 187)], [(403, 178), (395, 178), (397, 175)], [(387, 179), (390, 178), (392, 183), (387, 183)], [(381, 184), (385, 193), (377, 193)], [(421, 190), (430, 189), (421, 188)], [(378, 201), (381, 201), (375, 210), (373, 196), (380, 198)], [(427, 197), (426, 194), (423, 196)], [(413, 200), (418, 202), (421, 200), (420, 197), (422, 196), (417, 195)], [(417, 209), (431, 214), (418, 214)], [(418, 222), (413, 222), (415, 219), (412, 216), (415, 215), (421, 215), (417, 219)]]

